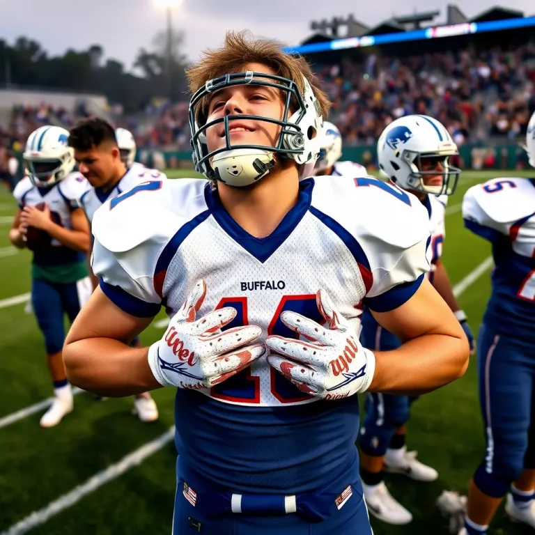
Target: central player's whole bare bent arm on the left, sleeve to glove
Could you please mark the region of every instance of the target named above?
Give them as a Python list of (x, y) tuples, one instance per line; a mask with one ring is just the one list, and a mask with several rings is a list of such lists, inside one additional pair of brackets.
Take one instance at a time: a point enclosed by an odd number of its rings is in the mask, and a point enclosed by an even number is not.
[(162, 387), (148, 364), (149, 348), (128, 344), (154, 316), (137, 317), (96, 288), (70, 328), (63, 347), (72, 385), (107, 397), (130, 396)]

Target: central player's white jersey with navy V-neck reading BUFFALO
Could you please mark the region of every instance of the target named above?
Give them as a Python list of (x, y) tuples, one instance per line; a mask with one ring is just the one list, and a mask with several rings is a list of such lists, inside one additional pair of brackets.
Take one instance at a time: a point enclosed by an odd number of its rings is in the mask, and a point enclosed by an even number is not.
[[(197, 317), (235, 307), (230, 326), (258, 325), (261, 340), (294, 336), (281, 323), (284, 310), (323, 322), (319, 288), (359, 332), (363, 303), (377, 311), (399, 307), (431, 261), (424, 206), (370, 177), (302, 180), (297, 204), (267, 238), (244, 231), (206, 180), (150, 182), (107, 201), (93, 219), (93, 235), (93, 272), (121, 309), (150, 317), (163, 304), (173, 317), (205, 279)], [(314, 401), (265, 359), (249, 372), (247, 384), (228, 389), (224, 382), (204, 394), (238, 405)]]

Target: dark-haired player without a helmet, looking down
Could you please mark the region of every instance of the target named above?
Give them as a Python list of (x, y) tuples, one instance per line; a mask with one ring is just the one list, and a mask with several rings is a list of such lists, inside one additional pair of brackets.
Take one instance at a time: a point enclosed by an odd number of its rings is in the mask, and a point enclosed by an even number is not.
[[(119, 141), (125, 145), (124, 138), (123, 134), (117, 136), (114, 128), (98, 117), (79, 121), (70, 131), (69, 145), (74, 149), (79, 171), (87, 179), (79, 206), (86, 212), (90, 224), (95, 212), (107, 199), (113, 199), (148, 180), (166, 178), (164, 173), (155, 169), (146, 169), (141, 164), (132, 165), (135, 148), (132, 153), (130, 147), (130, 153), (125, 155), (118, 146)], [(125, 162), (129, 162), (130, 167)], [(93, 275), (93, 286), (97, 284), (98, 279)], [(139, 345), (139, 339), (135, 338), (132, 343)], [(134, 410), (141, 421), (150, 422), (158, 418), (156, 403), (148, 392), (135, 396)]]

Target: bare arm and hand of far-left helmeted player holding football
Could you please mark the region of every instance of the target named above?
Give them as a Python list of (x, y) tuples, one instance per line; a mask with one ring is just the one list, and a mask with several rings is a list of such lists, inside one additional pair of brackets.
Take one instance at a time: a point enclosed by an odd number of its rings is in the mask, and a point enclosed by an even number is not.
[(86, 253), (89, 250), (89, 225), (82, 208), (75, 208), (71, 214), (72, 230), (56, 224), (50, 219), (50, 209), (38, 210), (34, 206), (26, 206), (22, 210), (21, 220), (27, 226), (35, 226), (47, 232), (61, 245)]

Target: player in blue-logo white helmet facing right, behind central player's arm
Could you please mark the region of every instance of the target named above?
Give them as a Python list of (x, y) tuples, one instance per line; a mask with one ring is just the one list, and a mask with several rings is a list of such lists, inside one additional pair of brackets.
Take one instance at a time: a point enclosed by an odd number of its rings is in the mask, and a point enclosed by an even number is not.
[[(473, 350), (474, 336), (440, 258), (445, 204), (460, 174), (449, 163), (449, 158), (458, 154), (457, 146), (442, 123), (428, 116), (412, 115), (390, 123), (378, 140), (377, 150), (382, 173), (397, 187), (414, 194), (426, 208), (433, 252), (428, 279), (455, 314)], [(375, 351), (401, 346), (398, 336), (383, 328), (370, 309), (362, 315), (360, 340), (364, 347)], [(436, 470), (421, 463), (405, 447), (405, 424), (412, 401), (414, 398), (408, 396), (380, 392), (366, 396), (366, 418), (359, 437), (364, 496), (370, 512), (389, 524), (407, 524), (412, 514), (390, 495), (383, 472), (404, 474), (416, 481), (433, 481), (438, 476)]]

